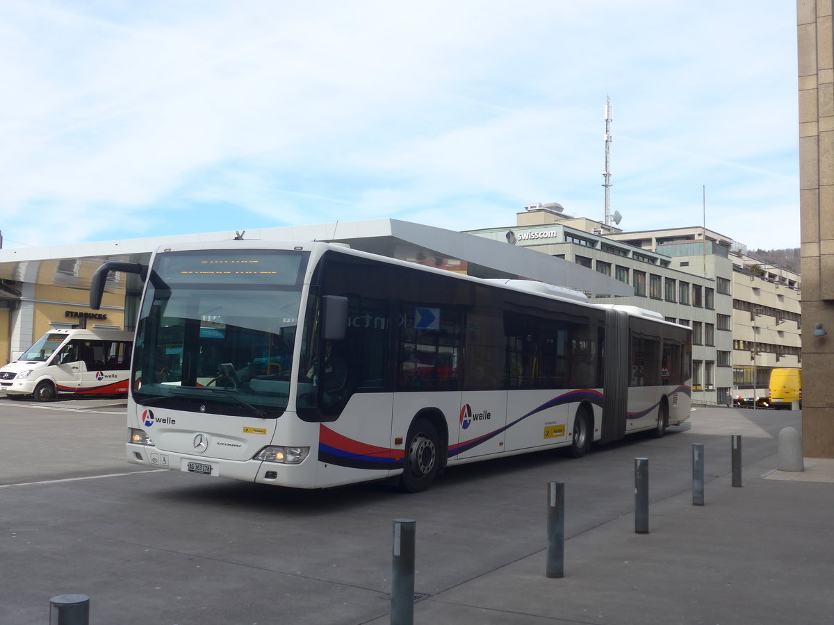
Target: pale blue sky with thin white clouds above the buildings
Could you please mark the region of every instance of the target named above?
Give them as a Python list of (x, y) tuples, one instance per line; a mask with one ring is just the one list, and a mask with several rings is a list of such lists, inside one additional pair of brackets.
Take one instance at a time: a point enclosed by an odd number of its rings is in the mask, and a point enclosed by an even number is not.
[[(394, 218), (799, 246), (791, 0), (0, 0), (4, 248)], [(705, 219), (706, 216), (706, 219)]]

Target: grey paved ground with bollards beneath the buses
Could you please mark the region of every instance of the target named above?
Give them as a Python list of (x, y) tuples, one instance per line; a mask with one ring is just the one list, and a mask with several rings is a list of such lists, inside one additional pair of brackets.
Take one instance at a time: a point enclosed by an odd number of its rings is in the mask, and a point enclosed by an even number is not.
[[(0, 399), (0, 623), (45, 624), (49, 597), (80, 592), (91, 623), (381, 625), (400, 517), (417, 521), (416, 623), (834, 622), (834, 461), (776, 471), (779, 431), (800, 424), (701, 408), (666, 438), (465, 465), (426, 493), (299, 492), (128, 465), (118, 402)], [(634, 532), (637, 457), (648, 534)], [(545, 577), (550, 479), (565, 482), (562, 579)]]

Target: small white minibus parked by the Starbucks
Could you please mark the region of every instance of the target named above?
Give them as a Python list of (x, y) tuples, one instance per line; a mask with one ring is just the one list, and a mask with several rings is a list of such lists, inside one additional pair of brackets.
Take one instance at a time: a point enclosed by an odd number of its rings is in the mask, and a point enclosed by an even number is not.
[(58, 395), (125, 395), (132, 347), (133, 333), (50, 330), (0, 368), (0, 390), (8, 398), (40, 402)]

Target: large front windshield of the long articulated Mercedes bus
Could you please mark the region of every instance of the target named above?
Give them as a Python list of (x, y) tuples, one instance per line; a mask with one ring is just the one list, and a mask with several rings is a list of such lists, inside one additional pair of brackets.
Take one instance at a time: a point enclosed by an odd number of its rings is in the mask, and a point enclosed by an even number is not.
[(307, 253), (160, 253), (138, 319), (133, 399), (277, 417), (289, 399)]

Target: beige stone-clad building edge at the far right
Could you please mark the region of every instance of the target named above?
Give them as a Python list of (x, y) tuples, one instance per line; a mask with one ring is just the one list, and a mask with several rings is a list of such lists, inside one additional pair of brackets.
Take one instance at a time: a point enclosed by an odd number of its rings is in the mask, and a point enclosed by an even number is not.
[[(801, 213), (802, 445), (834, 458), (834, 36), (831, 0), (797, 0)], [(819, 324), (819, 325), (817, 325)], [(812, 332), (813, 330), (813, 332)], [(825, 332), (823, 334), (823, 332)]]

